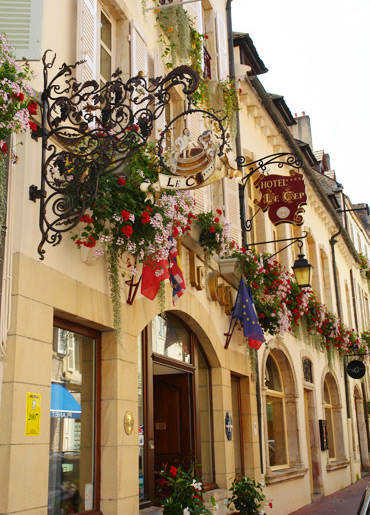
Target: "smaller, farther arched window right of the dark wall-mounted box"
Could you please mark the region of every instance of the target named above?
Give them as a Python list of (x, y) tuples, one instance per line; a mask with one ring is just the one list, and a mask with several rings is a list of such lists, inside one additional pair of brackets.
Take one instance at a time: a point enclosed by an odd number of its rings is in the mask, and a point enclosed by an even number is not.
[(336, 460), (344, 458), (344, 442), (339, 391), (331, 373), (325, 376), (323, 390), (329, 460)]

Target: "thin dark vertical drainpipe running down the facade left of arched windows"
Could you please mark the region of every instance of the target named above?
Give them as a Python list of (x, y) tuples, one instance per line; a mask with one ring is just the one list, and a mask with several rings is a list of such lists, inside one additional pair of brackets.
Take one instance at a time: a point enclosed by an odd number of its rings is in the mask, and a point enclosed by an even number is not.
[[(233, 42), (233, 26), (231, 18), (231, 2), (233, 0), (227, 0), (226, 2), (226, 23), (227, 23), (227, 41), (229, 50), (229, 75), (231, 80), (235, 81), (235, 60), (234, 60), (234, 42)], [(240, 138), (240, 117), (239, 111), (235, 113), (236, 118), (236, 137), (235, 137), (235, 148), (236, 155), (242, 155), (242, 144)], [(247, 243), (247, 232), (244, 226), (245, 220), (245, 201), (244, 201), (244, 188), (239, 184), (239, 205), (240, 205), (240, 220), (242, 228), (242, 242), (243, 245)], [(260, 374), (258, 365), (258, 352), (256, 352), (256, 397), (257, 397), (257, 419), (258, 419), (258, 440), (260, 449), (260, 462), (261, 462), (261, 474), (263, 474), (263, 451), (262, 451), (262, 406), (261, 406), (261, 386), (260, 386)]]

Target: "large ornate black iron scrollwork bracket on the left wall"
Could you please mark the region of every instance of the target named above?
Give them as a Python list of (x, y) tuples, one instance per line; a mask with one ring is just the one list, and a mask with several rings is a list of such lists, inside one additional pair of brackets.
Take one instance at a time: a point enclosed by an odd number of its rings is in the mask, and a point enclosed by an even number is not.
[[(95, 80), (80, 83), (74, 75), (83, 61), (62, 64), (49, 79), (56, 59), (50, 52), (42, 58), (42, 123), (33, 134), (34, 139), (42, 139), (41, 187), (32, 185), (29, 191), (31, 200), (40, 201), (40, 259), (44, 259), (44, 244), (58, 245), (62, 234), (73, 229), (92, 206), (99, 177), (119, 173), (124, 161), (148, 141), (154, 121), (170, 102), (171, 89), (182, 89), (188, 106), (185, 116), (194, 112), (192, 93), (199, 84), (198, 73), (188, 66), (163, 78), (147, 80), (139, 75), (127, 82), (117, 69), (103, 85)], [(211, 116), (221, 127), (222, 155), (225, 133), (218, 118)]]

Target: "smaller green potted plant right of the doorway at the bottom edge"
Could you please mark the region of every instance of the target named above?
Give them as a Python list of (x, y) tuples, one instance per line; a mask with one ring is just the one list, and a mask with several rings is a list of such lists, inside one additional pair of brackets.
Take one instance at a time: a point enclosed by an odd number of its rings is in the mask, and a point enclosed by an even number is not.
[[(254, 479), (244, 476), (236, 476), (229, 489), (231, 497), (228, 499), (227, 506), (232, 506), (235, 510), (232, 513), (245, 515), (258, 515), (264, 504), (266, 496), (263, 493), (263, 485)], [(271, 508), (271, 502), (269, 503)], [(264, 512), (262, 512), (264, 513)]]

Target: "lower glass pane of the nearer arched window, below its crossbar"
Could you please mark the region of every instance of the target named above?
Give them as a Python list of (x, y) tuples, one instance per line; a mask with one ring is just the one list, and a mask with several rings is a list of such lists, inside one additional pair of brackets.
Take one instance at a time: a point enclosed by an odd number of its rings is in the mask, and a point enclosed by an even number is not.
[(287, 463), (283, 399), (266, 396), (266, 416), (270, 466)]

